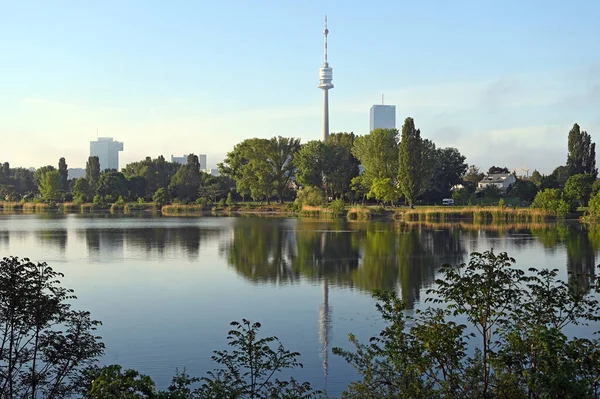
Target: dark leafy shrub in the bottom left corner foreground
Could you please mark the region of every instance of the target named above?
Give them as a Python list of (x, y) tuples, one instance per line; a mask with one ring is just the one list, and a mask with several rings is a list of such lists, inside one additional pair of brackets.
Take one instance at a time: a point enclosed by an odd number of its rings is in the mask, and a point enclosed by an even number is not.
[(75, 296), (62, 277), (27, 258), (0, 261), (0, 397), (72, 397), (81, 371), (102, 355), (100, 322), (71, 308)]

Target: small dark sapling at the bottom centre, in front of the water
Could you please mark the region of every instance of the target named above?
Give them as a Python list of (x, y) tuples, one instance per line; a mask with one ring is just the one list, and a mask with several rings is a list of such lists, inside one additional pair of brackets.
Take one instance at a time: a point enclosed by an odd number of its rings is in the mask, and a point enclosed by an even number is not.
[(199, 389), (201, 398), (309, 398), (315, 392), (308, 382), (273, 379), (284, 370), (302, 367), (298, 352), (283, 347), (277, 337), (259, 338), (260, 323), (232, 322), (228, 333), (234, 350), (215, 351), (221, 368), (208, 372)]

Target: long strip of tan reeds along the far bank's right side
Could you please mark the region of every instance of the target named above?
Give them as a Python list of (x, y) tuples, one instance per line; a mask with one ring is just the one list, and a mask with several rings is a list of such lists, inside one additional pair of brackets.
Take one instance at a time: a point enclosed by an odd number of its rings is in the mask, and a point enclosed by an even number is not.
[(416, 207), (396, 211), (394, 218), (404, 221), (444, 222), (472, 220), (486, 222), (544, 222), (556, 219), (548, 212), (532, 208), (513, 207)]

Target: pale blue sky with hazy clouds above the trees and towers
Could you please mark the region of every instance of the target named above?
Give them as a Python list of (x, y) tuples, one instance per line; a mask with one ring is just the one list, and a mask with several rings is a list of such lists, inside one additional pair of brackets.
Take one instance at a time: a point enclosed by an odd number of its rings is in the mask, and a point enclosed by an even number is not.
[(319, 139), (323, 19), (331, 132), (396, 105), (469, 164), (550, 173), (574, 123), (600, 138), (600, 2), (0, 0), (0, 161), (121, 167), (252, 137)]

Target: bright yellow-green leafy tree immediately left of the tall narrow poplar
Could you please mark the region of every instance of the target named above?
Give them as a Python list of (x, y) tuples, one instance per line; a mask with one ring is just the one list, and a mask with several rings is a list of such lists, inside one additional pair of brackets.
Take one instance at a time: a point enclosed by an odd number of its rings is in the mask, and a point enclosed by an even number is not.
[(364, 167), (360, 182), (368, 192), (374, 179), (398, 178), (398, 130), (375, 129), (354, 141), (352, 154)]

